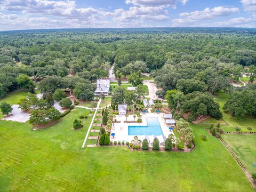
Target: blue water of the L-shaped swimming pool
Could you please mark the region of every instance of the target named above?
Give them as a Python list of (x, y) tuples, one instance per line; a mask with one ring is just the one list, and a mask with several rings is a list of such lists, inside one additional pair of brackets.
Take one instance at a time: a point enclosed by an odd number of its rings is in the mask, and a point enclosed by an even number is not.
[(162, 135), (158, 118), (146, 118), (148, 126), (128, 126), (129, 135)]

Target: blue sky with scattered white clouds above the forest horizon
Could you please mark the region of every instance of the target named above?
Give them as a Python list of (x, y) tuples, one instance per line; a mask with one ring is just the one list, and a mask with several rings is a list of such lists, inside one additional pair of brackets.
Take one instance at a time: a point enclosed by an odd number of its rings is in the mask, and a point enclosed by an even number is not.
[(256, 0), (0, 0), (0, 30), (254, 27)]

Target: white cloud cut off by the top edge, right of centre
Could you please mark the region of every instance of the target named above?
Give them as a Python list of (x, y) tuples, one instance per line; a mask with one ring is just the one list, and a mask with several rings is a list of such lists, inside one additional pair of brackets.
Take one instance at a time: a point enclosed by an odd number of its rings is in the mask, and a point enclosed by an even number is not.
[(139, 6), (172, 6), (176, 7), (178, 2), (186, 4), (188, 0), (125, 0), (126, 4)]

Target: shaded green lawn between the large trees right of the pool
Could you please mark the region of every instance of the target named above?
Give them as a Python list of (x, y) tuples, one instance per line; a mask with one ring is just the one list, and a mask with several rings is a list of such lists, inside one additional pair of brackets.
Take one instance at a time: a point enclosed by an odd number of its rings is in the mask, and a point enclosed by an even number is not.
[(244, 119), (238, 120), (235, 117), (223, 111), (222, 107), (224, 106), (224, 104), (226, 103), (229, 97), (228, 94), (219, 92), (218, 94), (215, 94), (213, 96), (214, 96), (214, 100), (220, 104), (220, 110), (223, 114), (223, 118), (220, 121), (217, 121), (216, 119), (213, 119), (213, 118), (209, 118), (202, 123), (205, 123), (205, 124), (227, 123), (228, 124), (227, 126), (221, 126), (221, 128), (224, 131), (235, 131), (236, 126), (240, 127), (243, 132), (247, 132), (247, 127), (252, 127), (253, 131), (256, 131), (256, 118), (254, 118), (253, 116), (246, 116)]

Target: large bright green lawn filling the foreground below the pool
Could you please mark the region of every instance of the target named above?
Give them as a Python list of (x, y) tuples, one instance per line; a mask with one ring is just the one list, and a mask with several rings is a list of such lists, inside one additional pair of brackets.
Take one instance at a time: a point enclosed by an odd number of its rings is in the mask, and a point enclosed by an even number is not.
[(226, 148), (203, 126), (192, 126), (192, 153), (82, 149), (91, 117), (81, 130), (71, 127), (74, 118), (88, 113), (76, 109), (38, 131), (28, 123), (1, 121), (0, 191), (254, 191)]

